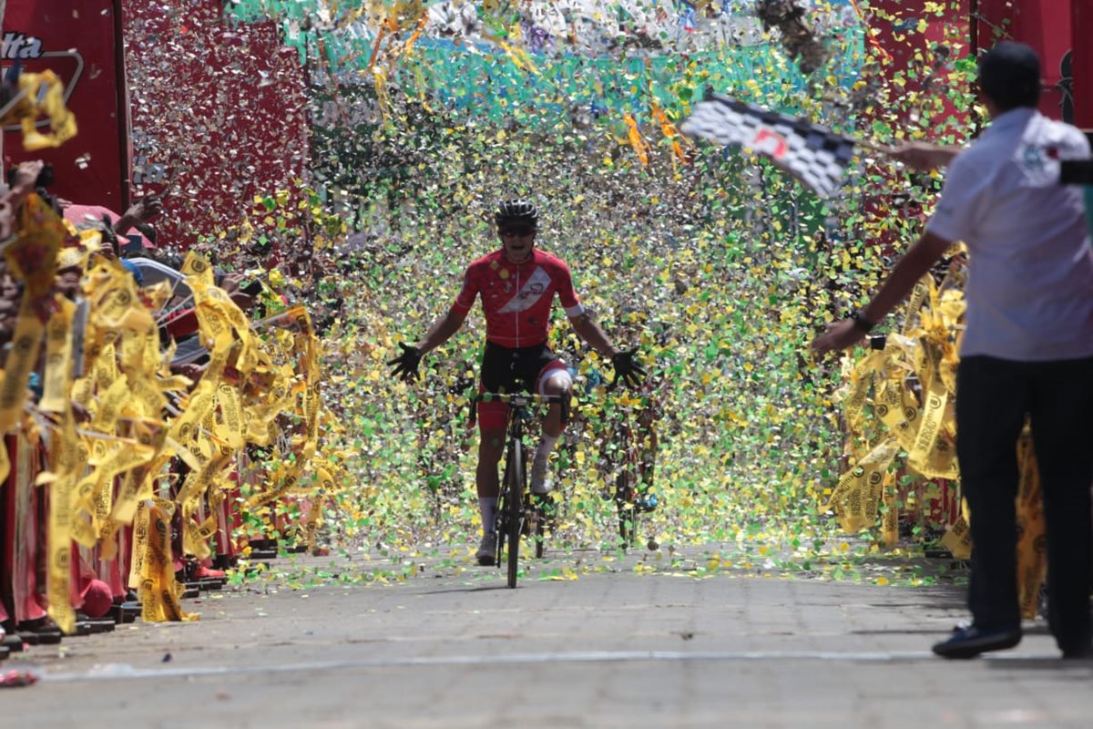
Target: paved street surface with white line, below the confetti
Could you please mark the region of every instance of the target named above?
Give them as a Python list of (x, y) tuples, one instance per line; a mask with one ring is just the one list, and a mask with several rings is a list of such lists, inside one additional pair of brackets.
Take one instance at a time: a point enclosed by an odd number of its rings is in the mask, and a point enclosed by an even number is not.
[(468, 565), (387, 585), (209, 592), (186, 601), (200, 622), (138, 622), (7, 661), (43, 680), (0, 691), (0, 724), (1090, 726), (1093, 662), (1060, 662), (1042, 623), (1004, 656), (933, 658), (961, 599), (951, 586), (695, 579), (625, 562), (516, 590)]

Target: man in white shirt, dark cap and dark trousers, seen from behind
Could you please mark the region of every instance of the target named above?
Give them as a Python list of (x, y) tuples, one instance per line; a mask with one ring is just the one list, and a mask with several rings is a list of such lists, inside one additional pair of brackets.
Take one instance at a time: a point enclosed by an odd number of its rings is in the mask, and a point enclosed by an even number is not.
[(967, 326), (956, 377), (956, 454), (972, 512), (971, 626), (933, 646), (971, 658), (1021, 640), (1016, 592), (1016, 439), (1029, 416), (1044, 492), (1050, 627), (1065, 658), (1093, 656), (1093, 250), (1082, 191), (1060, 160), (1086, 158), (1078, 129), (1036, 110), (1039, 60), (1003, 42), (979, 62), (990, 127), (956, 154), (905, 148), (918, 165), (949, 162), (937, 211), (872, 301), (813, 342), (851, 346), (957, 240), (969, 251)]

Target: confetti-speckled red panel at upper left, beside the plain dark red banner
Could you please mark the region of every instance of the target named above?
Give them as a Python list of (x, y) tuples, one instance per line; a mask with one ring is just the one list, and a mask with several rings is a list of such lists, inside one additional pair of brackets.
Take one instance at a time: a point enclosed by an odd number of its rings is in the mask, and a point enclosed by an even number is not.
[(296, 187), (308, 166), (306, 77), (278, 26), (227, 25), (221, 0), (122, 5), (134, 189), (165, 193), (161, 245), (189, 247), (237, 225), (256, 195)]

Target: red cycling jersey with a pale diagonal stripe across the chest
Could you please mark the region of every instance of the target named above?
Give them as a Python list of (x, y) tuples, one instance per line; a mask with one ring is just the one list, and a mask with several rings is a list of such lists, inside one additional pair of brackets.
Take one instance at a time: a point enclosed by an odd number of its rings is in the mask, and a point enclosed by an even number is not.
[(554, 292), (567, 317), (584, 314), (569, 267), (562, 259), (532, 249), (528, 260), (517, 264), (505, 258), (502, 248), (467, 268), (451, 310), (466, 316), (481, 293), (486, 339), (512, 349), (533, 346), (546, 341)]

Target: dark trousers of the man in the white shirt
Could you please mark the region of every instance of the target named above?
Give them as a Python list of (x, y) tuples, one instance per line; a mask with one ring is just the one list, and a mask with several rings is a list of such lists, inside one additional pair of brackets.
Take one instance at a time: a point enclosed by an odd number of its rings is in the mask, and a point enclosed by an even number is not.
[(972, 510), (968, 608), (980, 627), (1013, 627), (1016, 589), (1016, 440), (1031, 418), (1047, 525), (1048, 613), (1060, 648), (1090, 640), (1090, 486), (1093, 357), (961, 361), (956, 455)]

